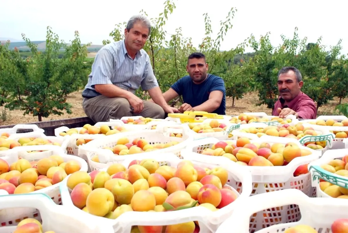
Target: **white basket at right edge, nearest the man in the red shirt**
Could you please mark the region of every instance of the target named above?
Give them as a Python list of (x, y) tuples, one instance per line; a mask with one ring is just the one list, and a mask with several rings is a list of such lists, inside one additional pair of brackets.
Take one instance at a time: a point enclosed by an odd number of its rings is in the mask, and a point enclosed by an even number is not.
[[(316, 125), (311, 124), (312, 122), (316, 122), (317, 120), (336, 120), (341, 122), (342, 120), (348, 120), (346, 116), (319, 116), (315, 120), (301, 120), (301, 123), (304, 127), (312, 127), (314, 130), (325, 130), (325, 131), (339, 131), (348, 133), (348, 126), (324, 126), (324, 125)], [(345, 143), (343, 142), (344, 138), (334, 138), (332, 142), (331, 149), (343, 149), (345, 148)]]

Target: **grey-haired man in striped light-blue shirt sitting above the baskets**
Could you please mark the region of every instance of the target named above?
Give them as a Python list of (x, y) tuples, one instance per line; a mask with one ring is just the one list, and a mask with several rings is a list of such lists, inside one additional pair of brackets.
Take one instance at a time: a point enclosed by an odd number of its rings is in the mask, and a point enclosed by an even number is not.
[[(149, 55), (142, 48), (151, 32), (150, 21), (137, 15), (129, 19), (125, 39), (101, 48), (82, 92), (82, 106), (94, 122), (124, 116), (164, 118), (179, 112), (165, 101), (153, 74)], [(135, 95), (139, 87), (147, 90), (153, 102)]]

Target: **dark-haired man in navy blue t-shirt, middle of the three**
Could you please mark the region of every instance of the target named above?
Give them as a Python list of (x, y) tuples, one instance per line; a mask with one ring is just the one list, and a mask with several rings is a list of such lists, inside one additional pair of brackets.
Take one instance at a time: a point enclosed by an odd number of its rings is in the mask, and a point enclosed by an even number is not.
[(187, 61), (186, 70), (189, 75), (176, 81), (168, 91), (163, 93), (164, 99), (170, 100), (182, 95), (183, 104), (178, 110), (206, 111), (225, 115), (226, 88), (221, 77), (208, 74), (208, 64), (203, 53), (192, 53)]

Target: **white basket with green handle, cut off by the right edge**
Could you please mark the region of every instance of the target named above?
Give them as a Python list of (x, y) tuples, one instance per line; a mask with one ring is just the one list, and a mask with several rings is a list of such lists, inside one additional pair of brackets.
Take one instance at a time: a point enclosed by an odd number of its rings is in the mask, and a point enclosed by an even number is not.
[(308, 165), (309, 171), (312, 176), (312, 186), (316, 188), (317, 197), (331, 198), (330, 195), (327, 195), (320, 189), (319, 187), (320, 179), (330, 182), (334, 185), (341, 186), (346, 189), (348, 188), (347, 177), (327, 172), (326, 170), (320, 167), (323, 164), (329, 163), (333, 159), (341, 159), (345, 157), (346, 155), (348, 155), (348, 149), (328, 150), (324, 153), (324, 155), (320, 159), (315, 160)]

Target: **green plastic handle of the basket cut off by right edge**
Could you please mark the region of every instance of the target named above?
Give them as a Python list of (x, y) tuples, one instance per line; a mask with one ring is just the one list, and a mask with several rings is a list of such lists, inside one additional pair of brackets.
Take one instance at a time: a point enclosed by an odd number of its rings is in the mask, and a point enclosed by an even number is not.
[(323, 179), (331, 184), (338, 185), (342, 188), (348, 189), (348, 177), (339, 176), (324, 170), (320, 166), (310, 166), (309, 171), (312, 173), (312, 180)]

